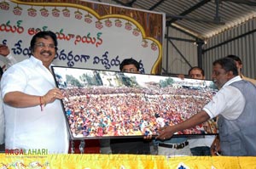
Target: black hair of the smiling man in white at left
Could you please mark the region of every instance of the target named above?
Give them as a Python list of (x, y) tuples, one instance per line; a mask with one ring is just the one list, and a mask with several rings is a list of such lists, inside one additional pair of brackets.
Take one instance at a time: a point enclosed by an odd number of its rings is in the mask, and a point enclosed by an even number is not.
[(55, 33), (52, 32), (52, 31), (39, 31), (36, 35), (34, 35), (32, 37), (32, 40), (30, 42), (30, 50), (31, 50), (31, 52), (32, 53), (34, 52), (35, 44), (36, 44), (38, 38), (46, 39), (47, 37), (51, 37), (52, 38), (52, 40), (55, 43), (55, 51), (57, 51), (57, 49), (58, 49), (57, 48), (58, 42), (57, 42), (57, 37), (56, 37)]

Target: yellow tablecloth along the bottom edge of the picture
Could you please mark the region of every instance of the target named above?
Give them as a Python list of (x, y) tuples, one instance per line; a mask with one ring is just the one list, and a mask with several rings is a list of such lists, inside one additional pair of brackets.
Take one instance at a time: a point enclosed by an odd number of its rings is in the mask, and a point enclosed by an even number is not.
[(162, 155), (5, 155), (0, 154), (0, 168), (76, 168), (76, 169), (256, 169), (256, 157)]

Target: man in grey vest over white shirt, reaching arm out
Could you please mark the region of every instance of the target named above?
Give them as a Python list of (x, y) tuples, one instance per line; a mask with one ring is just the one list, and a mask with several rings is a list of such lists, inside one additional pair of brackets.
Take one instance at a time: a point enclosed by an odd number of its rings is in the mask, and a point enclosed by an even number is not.
[(172, 127), (160, 129), (156, 138), (171, 138), (174, 132), (195, 127), (218, 115), (218, 130), (222, 155), (256, 155), (256, 87), (243, 81), (233, 59), (213, 62), (212, 79), (219, 88), (201, 112)]

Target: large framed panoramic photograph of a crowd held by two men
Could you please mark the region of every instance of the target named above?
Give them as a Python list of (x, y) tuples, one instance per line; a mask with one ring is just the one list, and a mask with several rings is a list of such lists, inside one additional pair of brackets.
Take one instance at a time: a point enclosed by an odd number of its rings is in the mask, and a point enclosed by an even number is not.
[[(143, 137), (199, 112), (217, 92), (212, 81), (52, 66), (73, 139)], [(217, 134), (214, 120), (174, 137)]]

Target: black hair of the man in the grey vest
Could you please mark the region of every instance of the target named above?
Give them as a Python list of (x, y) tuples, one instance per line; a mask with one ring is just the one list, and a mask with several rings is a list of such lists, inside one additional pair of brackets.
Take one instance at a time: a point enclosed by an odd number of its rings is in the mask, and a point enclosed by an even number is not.
[(221, 65), (221, 67), (226, 71), (232, 71), (234, 76), (238, 76), (238, 70), (236, 67), (236, 62), (234, 59), (231, 58), (222, 58), (222, 59), (217, 59), (213, 62), (212, 65)]

